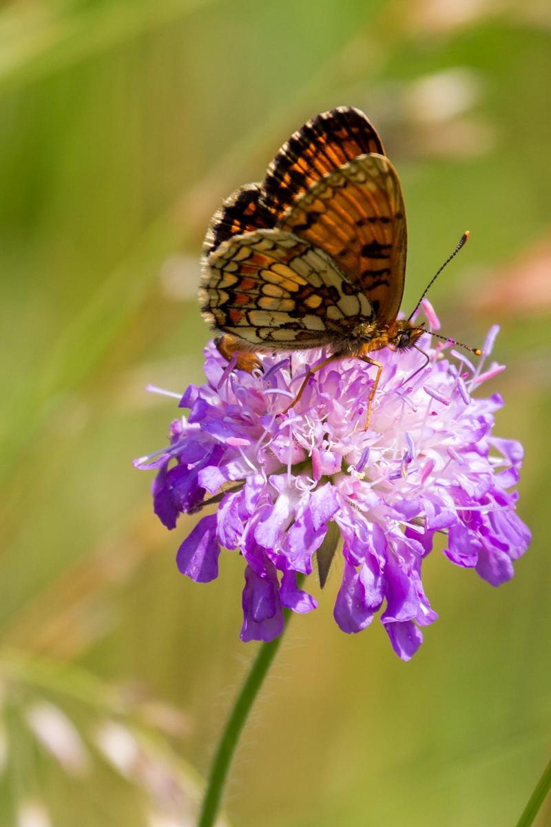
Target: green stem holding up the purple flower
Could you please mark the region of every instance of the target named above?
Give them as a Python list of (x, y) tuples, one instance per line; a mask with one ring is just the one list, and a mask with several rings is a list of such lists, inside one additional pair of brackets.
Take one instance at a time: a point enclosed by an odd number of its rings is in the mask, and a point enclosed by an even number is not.
[[(289, 611), (289, 609), (283, 609), (283, 614), (285, 615), (285, 629), (287, 629), (289, 616), (292, 612)], [(247, 716), (259, 693), (260, 686), (263, 684), (270, 664), (278, 651), (282, 638), (283, 633), (280, 634), (278, 638), (274, 638), (269, 643), (263, 643), (260, 646), (253, 664), (250, 667), (250, 672), (245, 679), (245, 683), (241, 686), (240, 693), (235, 699), (235, 704), (227, 720), (226, 728), (222, 732), (220, 743), (218, 743), (216, 755), (212, 762), (211, 774), (207, 783), (207, 792), (203, 799), (201, 816), (197, 822), (197, 827), (211, 827), (211, 825), (215, 823), (216, 813), (221, 804), (222, 792), (224, 791), (231, 759), (239, 742), (241, 730), (245, 726)]]

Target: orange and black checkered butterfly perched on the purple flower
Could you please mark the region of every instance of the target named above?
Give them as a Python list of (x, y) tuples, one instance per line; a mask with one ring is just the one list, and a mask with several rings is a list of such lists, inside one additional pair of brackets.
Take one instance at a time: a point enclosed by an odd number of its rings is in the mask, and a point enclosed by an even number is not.
[(398, 319), (406, 275), (406, 213), (400, 179), (368, 117), (338, 107), (312, 118), (278, 151), (264, 182), (245, 184), (211, 218), (199, 299), (235, 366), (260, 367), (255, 352), (326, 347), (311, 375), (356, 356), (415, 347), (423, 324)]

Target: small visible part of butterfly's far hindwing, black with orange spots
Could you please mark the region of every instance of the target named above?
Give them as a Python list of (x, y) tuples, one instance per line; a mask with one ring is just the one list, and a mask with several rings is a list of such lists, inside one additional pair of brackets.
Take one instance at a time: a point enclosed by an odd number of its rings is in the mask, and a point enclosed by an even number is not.
[(226, 198), (211, 218), (203, 242), (203, 253), (211, 252), (232, 236), (273, 227), (273, 216), (261, 203), (262, 184), (245, 184)]

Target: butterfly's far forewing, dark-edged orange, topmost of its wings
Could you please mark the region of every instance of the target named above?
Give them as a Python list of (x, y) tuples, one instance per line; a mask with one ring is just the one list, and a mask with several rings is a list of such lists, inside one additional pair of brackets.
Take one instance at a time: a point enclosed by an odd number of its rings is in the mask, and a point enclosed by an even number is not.
[(294, 132), (269, 165), (262, 196), (268, 212), (279, 218), (324, 175), (370, 152), (385, 154), (363, 112), (354, 107), (321, 112)]

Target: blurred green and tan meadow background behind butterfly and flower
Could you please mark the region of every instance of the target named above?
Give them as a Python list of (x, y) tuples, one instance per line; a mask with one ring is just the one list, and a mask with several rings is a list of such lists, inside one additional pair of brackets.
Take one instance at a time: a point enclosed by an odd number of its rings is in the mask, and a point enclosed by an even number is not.
[[(186, 827), (254, 644), (243, 562), (196, 585), (139, 457), (202, 378), (211, 213), (308, 117), (363, 108), (401, 173), (405, 307), (500, 323), (497, 431), (534, 532), (494, 590), (438, 552), (400, 662), (293, 619), (233, 767), (242, 827), (514, 825), (551, 747), (551, 9), (501, 0), (12, 0), (0, 9), (0, 824)], [(313, 580), (314, 578), (312, 578)], [(551, 807), (539, 827), (551, 824)]]

